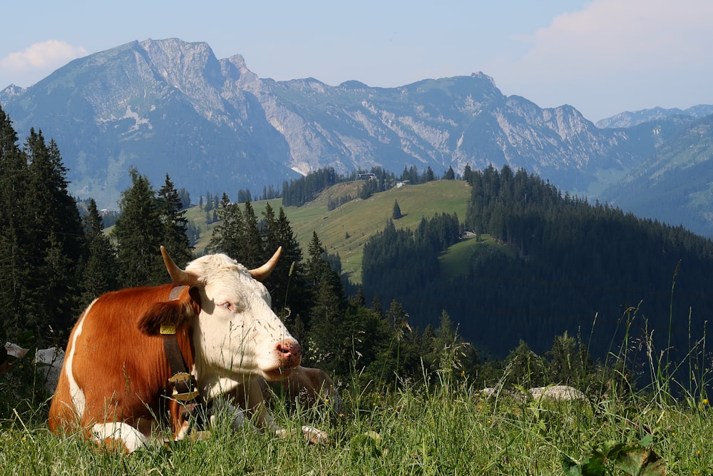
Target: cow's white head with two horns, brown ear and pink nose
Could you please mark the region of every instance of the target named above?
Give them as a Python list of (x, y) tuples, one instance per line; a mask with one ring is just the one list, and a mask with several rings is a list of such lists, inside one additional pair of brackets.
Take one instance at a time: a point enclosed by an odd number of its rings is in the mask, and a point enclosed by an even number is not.
[(160, 323), (193, 327), (196, 377), (240, 380), (262, 375), (277, 380), (300, 363), (297, 340), (270, 308), (270, 294), (260, 282), (275, 268), (282, 248), (260, 268), (248, 270), (223, 254), (205, 255), (185, 270), (161, 247), (174, 283), (188, 286), (164, 310), (144, 316), (142, 330), (157, 333)]

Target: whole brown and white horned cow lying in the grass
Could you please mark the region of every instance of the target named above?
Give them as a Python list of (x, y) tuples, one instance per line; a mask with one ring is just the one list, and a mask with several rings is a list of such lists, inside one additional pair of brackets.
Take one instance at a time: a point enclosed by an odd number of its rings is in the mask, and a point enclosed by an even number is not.
[(52, 400), (50, 429), (80, 431), (132, 452), (148, 443), (156, 419), (168, 412), (173, 438), (183, 438), (187, 425), (180, 405), (170, 398), (172, 372), (161, 335), (162, 328), (173, 326), (180, 354), (206, 401), (230, 393), (236, 400), (223, 405), (235, 425), (252, 421), (282, 434), (256, 381), (279, 380), (301, 360), (297, 340), (272, 312), (260, 283), (280, 251), (255, 270), (222, 254), (202, 256), (181, 270), (161, 247), (174, 284), (107, 293), (77, 321)]

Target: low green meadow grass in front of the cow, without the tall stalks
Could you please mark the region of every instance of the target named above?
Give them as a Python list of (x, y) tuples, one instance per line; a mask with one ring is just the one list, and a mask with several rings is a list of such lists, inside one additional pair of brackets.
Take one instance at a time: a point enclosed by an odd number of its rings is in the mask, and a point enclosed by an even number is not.
[[(344, 400), (352, 411), (334, 418), (324, 409), (296, 415), (276, 410), (285, 427), (314, 422), (327, 430), (327, 445), (219, 424), (207, 440), (157, 445), (130, 456), (76, 436), (56, 437), (40, 419), (16, 415), (0, 427), (0, 467), (14, 475), (561, 475), (563, 459), (581, 461), (597, 448), (638, 447), (644, 440), (641, 452), (660, 456), (667, 474), (706, 475), (713, 468), (707, 402), (662, 405), (643, 395), (520, 402), (508, 395), (485, 397), (465, 380), (346, 391)], [(603, 466), (602, 474), (630, 474), (613, 460)]]

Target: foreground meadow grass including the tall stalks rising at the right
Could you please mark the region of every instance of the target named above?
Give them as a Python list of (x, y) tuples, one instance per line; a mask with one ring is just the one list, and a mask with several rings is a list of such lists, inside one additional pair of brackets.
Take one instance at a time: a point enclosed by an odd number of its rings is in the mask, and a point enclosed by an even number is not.
[[(53, 435), (48, 401), (26, 398), (1, 415), (0, 474), (711, 475), (713, 373), (705, 339), (692, 341), (679, 361), (670, 349), (653, 348), (650, 335), (637, 340), (651, 382), (632, 391), (630, 329), (641, 318), (635, 308), (622, 315), (625, 338), (612, 343), (605, 363), (610, 379), (582, 388), (588, 400), (533, 400), (502, 385), (486, 395), (457, 368), (456, 340), (441, 350), (438, 372), (418, 382), (394, 376), (377, 387), (361, 378), (355, 358), (349, 382), (338, 383), (339, 412), (333, 402), (311, 409), (277, 402), (276, 420), (290, 433), (284, 439), (231, 430), (218, 415), (203, 440), (157, 440), (118, 455), (76, 435)], [(0, 381), (6, 397), (6, 376)], [(325, 430), (330, 441), (308, 444), (302, 425)]]

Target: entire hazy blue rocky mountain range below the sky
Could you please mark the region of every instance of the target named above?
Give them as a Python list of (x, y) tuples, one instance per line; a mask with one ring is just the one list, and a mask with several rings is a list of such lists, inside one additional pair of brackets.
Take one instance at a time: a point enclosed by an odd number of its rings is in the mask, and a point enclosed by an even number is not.
[(4, 89), (0, 103), (19, 136), (35, 127), (56, 140), (71, 192), (100, 206), (128, 187), (131, 166), (155, 184), (169, 173), (193, 196), (233, 196), (324, 166), (440, 174), (507, 163), (592, 196), (659, 141), (597, 128), (571, 106), (505, 96), (482, 73), (397, 88), (274, 81), (240, 55), (219, 60), (207, 44), (179, 39), (77, 59), (26, 90)]

